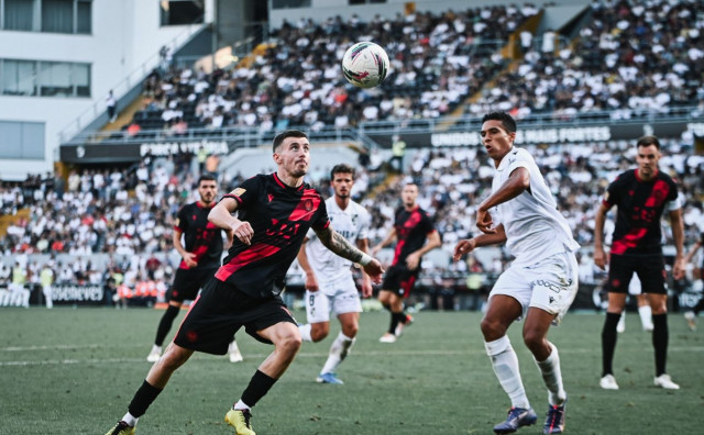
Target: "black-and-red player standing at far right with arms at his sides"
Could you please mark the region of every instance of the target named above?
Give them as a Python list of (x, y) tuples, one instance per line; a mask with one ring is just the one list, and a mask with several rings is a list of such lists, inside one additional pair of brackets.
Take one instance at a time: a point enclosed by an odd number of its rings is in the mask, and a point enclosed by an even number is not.
[(608, 309), (602, 331), (603, 372), (600, 384), (607, 390), (617, 390), (613, 359), (616, 349), (616, 325), (626, 304), (628, 285), (634, 272), (640, 278), (642, 292), (648, 293), (652, 309), (652, 345), (654, 347), (654, 384), (676, 390), (666, 372), (668, 357), (668, 292), (662, 255), (660, 220), (668, 211), (672, 237), (676, 248), (672, 276), (684, 275), (684, 225), (678, 186), (667, 174), (658, 169), (660, 142), (656, 136), (644, 136), (636, 145), (637, 169), (627, 170), (608, 186), (604, 201), (596, 212), (594, 223), (594, 263), (606, 266), (603, 246), (604, 221), (608, 210), (616, 205), (610, 259), (608, 260)]

